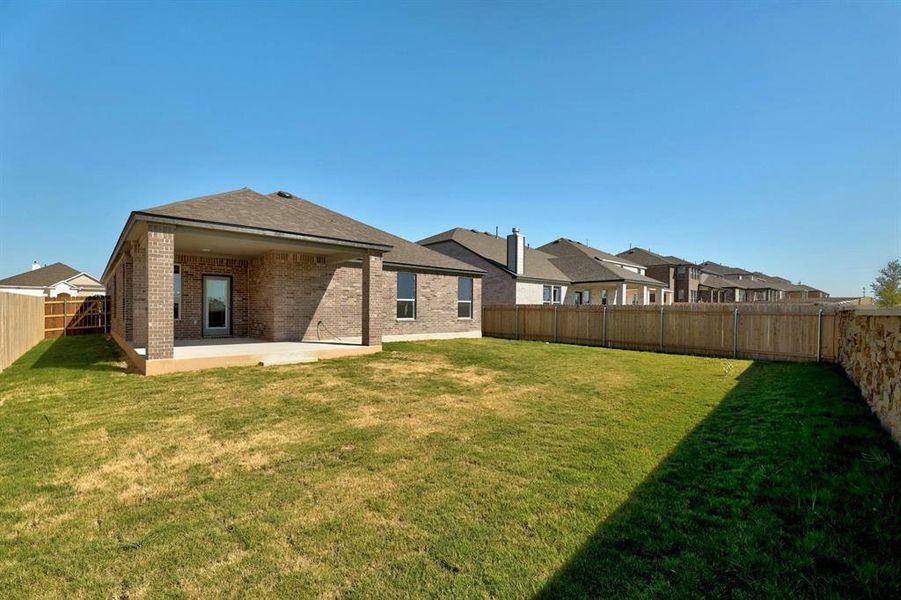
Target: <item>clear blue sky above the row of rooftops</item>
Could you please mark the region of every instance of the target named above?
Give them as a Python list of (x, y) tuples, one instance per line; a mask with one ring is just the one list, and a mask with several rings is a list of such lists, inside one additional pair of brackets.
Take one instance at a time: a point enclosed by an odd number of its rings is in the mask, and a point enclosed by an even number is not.
[(901, 5), (0, 2), (0, 275), (243, 186), (857, 295), (901, 256)]

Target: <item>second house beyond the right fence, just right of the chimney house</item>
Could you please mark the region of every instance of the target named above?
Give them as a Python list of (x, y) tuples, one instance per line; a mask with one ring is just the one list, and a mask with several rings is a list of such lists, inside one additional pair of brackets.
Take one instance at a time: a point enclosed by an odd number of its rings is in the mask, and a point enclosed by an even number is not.
[(671, 304), (672, 289), (645, 275), (645, 267), (580, 242), (560, 238), (538, 248), (569, 277), (574, 304)]

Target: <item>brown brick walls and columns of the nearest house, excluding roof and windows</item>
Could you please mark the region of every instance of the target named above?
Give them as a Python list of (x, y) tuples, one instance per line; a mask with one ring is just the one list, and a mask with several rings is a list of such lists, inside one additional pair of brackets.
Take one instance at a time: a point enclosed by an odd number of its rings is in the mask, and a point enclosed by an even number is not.
[[(148, 249), (150, 250), (148, 253)], [(269, 252), (250, 259), (203, 255), (175, 255), (171, 231), (149, 231), (134, 250), (134, 262), (123, 260), (122, 277), (132, 273), (131, 313), (128, 285), (117, 285), (116, 294), (126, 305), (135, 346), (146, 346), (147, 282), (150, 293), (151, 357), (171, 356), (171, 339), (202, 337), (202, 277), (232, 277), (233, 335), (270, 341), (359, 338), (363, 326), (363, 268), (360, 264), (331, 264), (323, 258), (300, 253)], [(149, 261), (148, 261), (149, 257)], [(167, 258), (168, 257), (168, 258)], [(381, 257), (369, 257), (374, 284), (369, 295), (378, 318), (370, 323), (373, 343), (382, 335), (422, 335), (469, 332), (481, 329), (481, 280), (473, 279), (473, 319), (457, 318), (457, 276), (417, 273), (417, 318), (395, 317), (397, 274), (383, 270)], [(173, 319), (173, 265), (181, 265), (181, 318)], [(149, 266), (149, 271), (148, 271)], [(116, 274), (119, 277), (119, 273)], [(119, 279), (121, 281), (121, 279)], [(126, 292), (122, 294), (120, 292)], [(118, 300), (117, 300), (118, 301)], [(131, 319), (128, 318), (131, 314)], [(167, 331), (168, 321), (168, 331)]]

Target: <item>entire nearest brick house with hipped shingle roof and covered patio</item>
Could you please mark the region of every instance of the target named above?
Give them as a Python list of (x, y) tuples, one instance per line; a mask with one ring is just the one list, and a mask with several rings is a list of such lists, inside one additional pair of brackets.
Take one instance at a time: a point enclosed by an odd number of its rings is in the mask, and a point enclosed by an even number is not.
[(113, 338), (149, 365), (173, 358), (176, 340), (479, 336), (483, 274), (287, 192), (243, 188), (132, 212), (102, 281)]

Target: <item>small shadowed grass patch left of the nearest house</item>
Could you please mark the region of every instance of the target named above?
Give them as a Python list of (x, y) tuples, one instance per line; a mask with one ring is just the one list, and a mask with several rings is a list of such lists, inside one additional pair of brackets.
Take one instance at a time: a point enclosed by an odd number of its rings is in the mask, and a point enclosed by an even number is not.
[(78, 335), (45, 340), (17, 362), (28, 369), (125, 372), (119, 349), (103, 335)]

